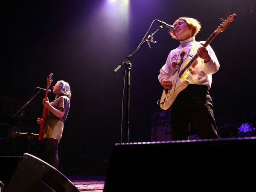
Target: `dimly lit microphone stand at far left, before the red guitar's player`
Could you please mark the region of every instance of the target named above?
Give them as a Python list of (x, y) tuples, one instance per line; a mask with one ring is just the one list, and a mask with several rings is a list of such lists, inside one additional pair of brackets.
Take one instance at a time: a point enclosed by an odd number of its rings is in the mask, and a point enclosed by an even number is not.
[(25, 105), (23, 105), (13, 116), (12, 118), (14, 118), (17, 114), (20, 113), (20, 118), (19, 118), (19, 123), (18, 123), (18, 128), (17, 128), (17, 135), (15, 135), (15, 139), (12, 141), (12, 147), (10, 150), (10, 155), (12, 154), (12, 149), (15, 146), (14, 149), (14, 155), (16, 155), (16, 150), (17, 150), (17, 140), (18, 140), (18, 136), (19, 136), (19, 132), (20, 132), (20, 127), (23, 121), (23, 115), (24, 115), (24, 108), (35, 98), (35, 96), (37, 96), (39, 93), (41, 92), (41, 90), (39, 90)]

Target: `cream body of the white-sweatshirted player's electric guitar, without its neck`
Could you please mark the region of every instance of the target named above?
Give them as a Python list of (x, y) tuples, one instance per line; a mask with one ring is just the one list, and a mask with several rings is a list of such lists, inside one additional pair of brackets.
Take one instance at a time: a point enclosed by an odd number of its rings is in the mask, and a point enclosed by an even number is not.
[(189, 80), (179, 78), (178, 72), (175, 73), (169, 80), (172, 81), (172, 89), (164, 89), (161, 99), (160, 108), (167, 110), (170, 108), (177, 95), (189, 85)]

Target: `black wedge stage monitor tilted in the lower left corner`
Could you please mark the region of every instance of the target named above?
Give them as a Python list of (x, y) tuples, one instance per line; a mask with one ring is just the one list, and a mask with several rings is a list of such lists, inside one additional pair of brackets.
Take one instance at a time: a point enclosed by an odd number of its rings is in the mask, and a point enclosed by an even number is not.
[[(0, 159), (4, 161), (10, 158)], [(15, 161), (17, 158), (12, 163), (16, 169), (10, 180), (6, 181), (4, 192), (79, 192), (61, 172), (33, 155), (24, 153), (18, 163)], [(1, 178), (9, 179), (8, 175), (3, 176), (6, 172), (10, 175), (8, 169), (12, 171), (14, 167), (5, 167), (7, 171), (4, 172), (1, 170)]]

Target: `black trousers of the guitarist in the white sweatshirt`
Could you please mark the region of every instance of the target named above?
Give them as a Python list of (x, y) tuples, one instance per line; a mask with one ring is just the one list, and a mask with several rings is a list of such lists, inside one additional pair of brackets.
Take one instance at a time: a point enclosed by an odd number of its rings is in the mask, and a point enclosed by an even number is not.
[(170, 109), (172, 140), (187, 140), (190, 122), (200, 139), (219, 138), (207, 86), (189, 84), (177, 95)]

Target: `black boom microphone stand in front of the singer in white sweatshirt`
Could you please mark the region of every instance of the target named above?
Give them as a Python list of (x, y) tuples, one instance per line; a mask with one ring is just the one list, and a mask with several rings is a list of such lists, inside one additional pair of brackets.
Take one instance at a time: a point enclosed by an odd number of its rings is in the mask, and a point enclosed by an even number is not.
[[(163, 25), (159, 26), (159, 28), (154, 32), (151, 33), (151, 35), (148, 35), (148, 38), (144, 40), (140, 45), (137, 47), (137, 49), (134, 50), (131, 54), (129, 54), (126, 59), (120, 63), (116, 69), (113, 70), (114, 73), (116, 73), (122, 66), (125, 66), (124, 70), (124, 82), (125, 82), (125, 77), (126, 79), (126, 131), (125, 131), (125, 143), (129, 142), (129, 118), (130, 118), (130, 86), (131, 86), (131, 67), (132, 63), (130, 61), (131, 57), (147, 42), (148, 46), (150, 47), (150, 43), (157, 43), (156, 41), (153, 41), (153, 35), (158, 32), (160, 29), (163, 29)], [(151, 47), (150, 47), (151, 48)], [(121, 124), (122, 127), (122, 124)], [(121, 128), (121, 133), (122, 133), (122, 128)], [(122, 136), (122, 135), (121, 135)], [(121, 139), (122, 143), (122, 139)]]

